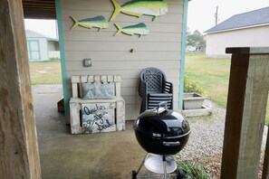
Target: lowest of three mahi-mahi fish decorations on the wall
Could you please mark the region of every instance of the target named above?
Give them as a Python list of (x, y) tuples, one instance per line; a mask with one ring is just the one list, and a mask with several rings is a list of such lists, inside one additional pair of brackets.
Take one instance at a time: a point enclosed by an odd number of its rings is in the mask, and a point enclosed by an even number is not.
[(119, 33), (125, 33), (125, 34), (129, 34), (129, 35), (138, 34), (140, 37), (141, 35), (149, 34), (149, 29), (148, 29), (147, 25), (143, 24), (143, 23), (129, 25), (129, 26), (125, 26), (122, 28), (118, 24), (115, 24), (115, 26), (118, 28), (118, 32), (115, 33), (114, 35), (117, 35)]

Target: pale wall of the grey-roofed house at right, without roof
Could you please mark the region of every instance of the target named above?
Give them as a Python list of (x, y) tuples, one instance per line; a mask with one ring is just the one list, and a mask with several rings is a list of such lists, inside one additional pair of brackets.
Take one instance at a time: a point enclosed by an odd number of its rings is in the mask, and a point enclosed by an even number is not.
[(226, 47), (269, 46), (269, 25), (207, 34), (207, 57), (226, 57)]

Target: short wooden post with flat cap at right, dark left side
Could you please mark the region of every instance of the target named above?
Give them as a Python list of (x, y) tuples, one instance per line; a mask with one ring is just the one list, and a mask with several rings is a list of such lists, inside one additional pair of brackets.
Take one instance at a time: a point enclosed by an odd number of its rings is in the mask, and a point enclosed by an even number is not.
[(257, 178), (269, 89), (269, 48), (232, 53), (221, 178)]

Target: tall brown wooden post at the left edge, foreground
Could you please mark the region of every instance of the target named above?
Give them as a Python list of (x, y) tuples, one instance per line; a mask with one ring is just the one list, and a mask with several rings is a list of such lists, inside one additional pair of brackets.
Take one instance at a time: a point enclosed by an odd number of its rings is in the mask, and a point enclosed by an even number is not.
[(41, 178), (22, 1), (0, 0), (0, 178)]

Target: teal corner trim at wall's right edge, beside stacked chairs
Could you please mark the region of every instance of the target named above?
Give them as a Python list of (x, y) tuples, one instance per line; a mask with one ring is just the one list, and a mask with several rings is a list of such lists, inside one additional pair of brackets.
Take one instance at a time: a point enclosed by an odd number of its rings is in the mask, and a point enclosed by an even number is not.
[(179, 77), (179, 104), (180, 109), (183, 108), (183, 90), (184, 90), (184, 72), (185, 72), (185, 49), (187, 38), (187, 4), (188, 0), (184, 0), (183, 6), (183, 25), (182, 25), (182, 42), (181, 42), (181, 61), (180, 61), (180, 77)]

